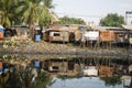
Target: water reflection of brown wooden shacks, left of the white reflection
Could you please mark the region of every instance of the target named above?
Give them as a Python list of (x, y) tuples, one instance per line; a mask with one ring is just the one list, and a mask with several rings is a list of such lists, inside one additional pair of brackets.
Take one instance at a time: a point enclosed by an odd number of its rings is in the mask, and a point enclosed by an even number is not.
[(78, 74), (80, 66), (77, 62), (66, 58), (55, 58), (41, 62), (41, 67), (50, 73)]

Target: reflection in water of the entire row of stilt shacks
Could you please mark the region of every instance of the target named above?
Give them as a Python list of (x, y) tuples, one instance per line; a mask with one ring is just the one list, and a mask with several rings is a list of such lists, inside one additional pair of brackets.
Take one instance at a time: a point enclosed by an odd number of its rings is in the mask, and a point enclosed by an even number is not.
[[(87, 70), (85, 68), (89, 66), (88, 72), (84, 72), (87, 76), (100, 76), (100, 77), (112, 77), (113, 75), (124, 75), (128, 73), (128, 61), (111, 59), (108, 58), (52, 58), (41, 62), (41, 68), (50, 73), (72, 73), (78, 75), (79, 73)], [(91, 66), (91, 67), (90, 67)], [(94, 67), (95, 66), (95, 67)], [(94, 70), (94, 72), (91, 72)]]

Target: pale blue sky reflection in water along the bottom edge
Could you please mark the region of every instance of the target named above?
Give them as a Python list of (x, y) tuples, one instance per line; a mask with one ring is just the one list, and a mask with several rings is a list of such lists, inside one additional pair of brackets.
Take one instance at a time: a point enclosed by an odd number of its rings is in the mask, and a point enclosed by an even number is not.
[(106, 85), (106, 81), (100, 80), (99, 77), (81, 77), (70, 79), (55, 78), (56, 82), (48, 88), (123, 88), (123, 85)]

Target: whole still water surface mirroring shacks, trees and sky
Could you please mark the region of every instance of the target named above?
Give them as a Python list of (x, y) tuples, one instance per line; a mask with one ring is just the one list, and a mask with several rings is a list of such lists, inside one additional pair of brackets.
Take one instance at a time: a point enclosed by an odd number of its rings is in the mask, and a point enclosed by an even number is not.
[(30, 58), (1, 55), (0, 58), (0, 88), (123, 88), (125, 82), (125, 87), (132, 85), (132, 63), (128, 58), (42, 56), (40, 59), (32, 55)]

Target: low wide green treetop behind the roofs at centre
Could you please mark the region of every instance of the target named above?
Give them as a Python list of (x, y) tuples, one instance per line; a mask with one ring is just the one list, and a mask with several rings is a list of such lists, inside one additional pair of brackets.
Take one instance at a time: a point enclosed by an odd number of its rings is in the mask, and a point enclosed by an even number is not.
[(63, 16), (59, 19), (59, 24), (86, 24), (86, 23), (81, 19)]

